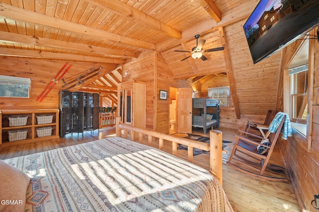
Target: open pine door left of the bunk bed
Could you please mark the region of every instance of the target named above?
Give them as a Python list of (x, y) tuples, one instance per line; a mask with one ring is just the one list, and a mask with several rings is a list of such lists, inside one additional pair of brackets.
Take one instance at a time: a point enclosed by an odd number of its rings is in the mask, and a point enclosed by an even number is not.
[(191, 133), (192, 92), (190, 88), (178, 88), (177, 133)]

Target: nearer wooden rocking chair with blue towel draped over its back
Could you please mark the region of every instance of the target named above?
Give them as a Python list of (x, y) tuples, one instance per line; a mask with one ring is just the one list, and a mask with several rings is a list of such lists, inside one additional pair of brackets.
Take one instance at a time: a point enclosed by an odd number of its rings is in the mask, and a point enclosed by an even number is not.
[[(277, 172), (276, 175), (278, 173), (285, 174), (285, 168), (281, 166), (277, 166), (277, 165), (268, 164), (270, 156), (274, 150), (275, 144), (279, 137), (280, 131), (285, 122), (285, 118), (286, 117), (284, 117), (283, 120), (281, 121), (276, 133), (271, 133), (269, 137), (269, 142), (271, 143), (270, 146), (261, 144), (261, 141), (263, 141), (264, 138), (259, 137), (255, 134), (241, 131), (242, 134), (246, 134), (251, 137), (254, 137), (256, 140), (251, 140), (247, 137), (235, 135), (237, 140), (235, 141), (234, 148), (232, 150), (232, 153), (230, 155), (230, 158), (227, 164), (251, 176), (256, 176), (259, 178), (268, 179), (272, 181), (278, 181), (278, 182), (289, 182), (287, 178), (264, 175), (266, 167), (267, 169)], [(264, 147), (266, 153), (264, 154), (258, 153), (257, 146), (259, 145)]]

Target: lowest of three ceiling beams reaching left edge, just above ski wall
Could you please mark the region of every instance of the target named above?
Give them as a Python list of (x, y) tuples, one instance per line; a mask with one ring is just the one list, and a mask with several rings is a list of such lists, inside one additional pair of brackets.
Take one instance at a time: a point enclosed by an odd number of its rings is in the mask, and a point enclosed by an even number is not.
[(92, 57), (83, 55), (72, 55), (64, 53), (53, 53), (53, 52), (39, 52), (24, 49), (12, 49), (0, 47), (0, 55), (11, 56), (11, 57), (25, 57), (25, 58), (41, 58), (48, 60), (68, 60), (68, 61), (81, 61), (81, 62), (94, 62), (94, 63), (110, 63), (110, 64), (124, 64), (125, 60), (103, 58), (103, 57)]

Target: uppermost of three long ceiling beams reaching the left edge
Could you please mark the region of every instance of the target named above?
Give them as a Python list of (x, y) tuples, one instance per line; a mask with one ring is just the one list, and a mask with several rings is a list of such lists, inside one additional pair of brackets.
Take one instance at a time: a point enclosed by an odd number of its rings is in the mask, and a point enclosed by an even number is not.
[(84, 36), (91, 36), (100, 40), (112, 40), (115, 42), (129, 44), (143, 49), (155, 50), (155, 44), (140, 41), (137, 39), (121, 36), (115, 33), (88, 27), (82, 24), (73, 23), (71, 21), (29, 11), (16, 6), (0, 2), (0, 17), (4, 19), (17, 20), (21, 22), (31, 23), (53, 29), (63, 30), (71, 33), (77, 33)]

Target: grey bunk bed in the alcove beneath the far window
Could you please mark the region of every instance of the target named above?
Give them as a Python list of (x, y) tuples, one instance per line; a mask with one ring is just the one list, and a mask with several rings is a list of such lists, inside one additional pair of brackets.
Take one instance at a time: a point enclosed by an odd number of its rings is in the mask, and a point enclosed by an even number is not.
[(192, 108), (192, 127), (203, 128), (204, 134), (209, 128), (219, 128), (219, 100), (193, 98)]

